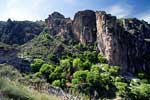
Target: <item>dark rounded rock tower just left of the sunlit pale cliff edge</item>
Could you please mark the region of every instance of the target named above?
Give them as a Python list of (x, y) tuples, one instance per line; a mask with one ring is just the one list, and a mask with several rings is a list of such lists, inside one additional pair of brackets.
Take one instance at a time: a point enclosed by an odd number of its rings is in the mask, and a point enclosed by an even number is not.
[(75, 14), (73, 33), (81, 43), (96, 41), (96, 15), (94, 11), (85, 10)]

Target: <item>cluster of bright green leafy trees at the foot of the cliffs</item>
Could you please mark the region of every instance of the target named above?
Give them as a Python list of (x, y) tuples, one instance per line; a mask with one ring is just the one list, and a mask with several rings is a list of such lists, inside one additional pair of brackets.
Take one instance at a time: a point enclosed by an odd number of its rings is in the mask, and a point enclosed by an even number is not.
[[(74, 95), (95, 99), (116, 96), (150, 99), (150, 83), (144, 79), (144, 74), (139, 74), (140, 79), (125, 79), (120, 75), (120, 67), (108, 65), (100, 53), (95, 50), (80, 51), (72, 56), (63, 55), (57, 64), (34, 59), (32, 71), (38, 77), (44, 76), (51, 85)], [(50, 59), (55, 60), (52, 57)]]

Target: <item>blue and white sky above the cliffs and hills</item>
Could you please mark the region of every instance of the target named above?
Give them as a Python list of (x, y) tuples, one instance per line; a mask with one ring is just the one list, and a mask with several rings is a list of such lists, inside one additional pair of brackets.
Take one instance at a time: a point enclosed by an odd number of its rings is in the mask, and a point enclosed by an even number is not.
[(0, 20), (44, 20), (54, 11), (73, 18), (77, 11), (85, 9), (150, 22), (150, 0), (0, 0)]

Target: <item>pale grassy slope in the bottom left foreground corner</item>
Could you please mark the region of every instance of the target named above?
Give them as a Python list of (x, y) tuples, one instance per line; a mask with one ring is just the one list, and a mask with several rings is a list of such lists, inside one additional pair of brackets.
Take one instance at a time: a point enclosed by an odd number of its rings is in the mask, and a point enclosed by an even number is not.
[[(20, 80), (29, 81), (10, 65), (0, 65), (0, 99), (2, 100), (59, 100), (61, 97), (42, 93), (23, 84)], [(34, 80), (30, 78), (30, 80)]]

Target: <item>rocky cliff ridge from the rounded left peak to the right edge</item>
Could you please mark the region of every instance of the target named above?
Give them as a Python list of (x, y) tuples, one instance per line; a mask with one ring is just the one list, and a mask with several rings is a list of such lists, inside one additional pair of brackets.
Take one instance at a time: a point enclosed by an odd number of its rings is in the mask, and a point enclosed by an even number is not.
[[(121, 66), (124, 72), (150, 69), (150, 25), (145, 21), (117, 19), (104, 11), (91, 10), (77, 12), (72, 21), (66, 21), (58, 13), (50, 15), (48, 19), (49, 27), (54, 28), (56, 33), (64, 33), (61, 30), (67, 28), (66, 33), (72, 32), (81, 43), (97, 42), (99, 51), (109, 64)], [(57, 21), (59, 23), (56, 24)], [(66, 27), (66, 22), (69, 22), (69, 27)]]

